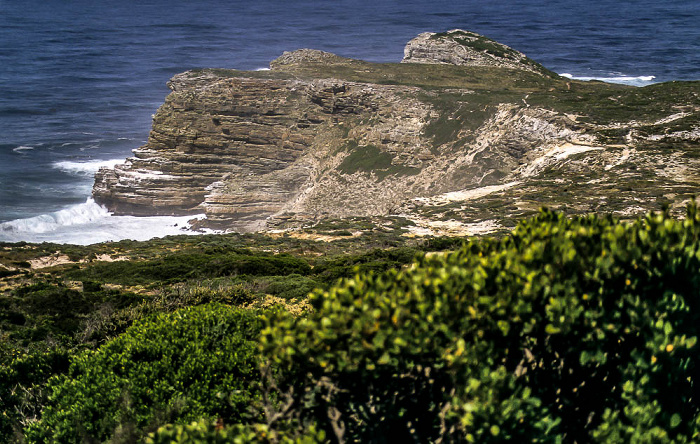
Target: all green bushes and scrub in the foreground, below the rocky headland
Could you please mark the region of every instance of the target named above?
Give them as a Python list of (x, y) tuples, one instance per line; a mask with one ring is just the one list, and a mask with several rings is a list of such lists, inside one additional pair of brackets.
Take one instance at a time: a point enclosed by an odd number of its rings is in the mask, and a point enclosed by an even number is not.
[(695, 204), (368, 248), (392, 224), (132, 243), (142, 259), (3, 278), (2, 441), (700, 439)]

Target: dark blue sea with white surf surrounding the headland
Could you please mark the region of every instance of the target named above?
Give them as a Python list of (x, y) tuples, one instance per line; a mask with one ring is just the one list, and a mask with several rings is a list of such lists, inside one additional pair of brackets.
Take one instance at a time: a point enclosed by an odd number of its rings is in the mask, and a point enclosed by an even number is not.
[(577, 78), (700, 79), (698, 0), (0, 0), (0, 241), (177, 232), (89, 200), (97, 168), (145, 142), (174, 74), (298, 48), (398, 62), (417, 34), (454, 28)]

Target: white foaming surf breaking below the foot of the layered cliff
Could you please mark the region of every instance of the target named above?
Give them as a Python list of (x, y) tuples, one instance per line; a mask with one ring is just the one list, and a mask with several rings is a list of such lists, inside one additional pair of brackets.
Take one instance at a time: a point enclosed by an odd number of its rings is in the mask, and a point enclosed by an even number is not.
[(176, 234), (201, 234), (191, 231), (188, 221), (202, 217), (204, 215), (113, 216), (89, 198), (87, 202), (65, 210), (1, 223), (0, 241), (89, 245), (123, 239), (142, 241)]

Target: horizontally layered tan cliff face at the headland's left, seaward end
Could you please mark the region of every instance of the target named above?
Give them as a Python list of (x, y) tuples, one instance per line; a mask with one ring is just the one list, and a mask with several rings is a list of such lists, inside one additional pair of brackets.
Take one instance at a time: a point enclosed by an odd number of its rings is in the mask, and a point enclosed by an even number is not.
[[(296, 160), (323, 121), (293, 81), (183, 74), (158, 110), (148, 143), (93, 194), (118, 214), (202, 212), (208, 187), (230, 174), (259, 175)], [(301, 90), (301, 91), (300, 91)]]

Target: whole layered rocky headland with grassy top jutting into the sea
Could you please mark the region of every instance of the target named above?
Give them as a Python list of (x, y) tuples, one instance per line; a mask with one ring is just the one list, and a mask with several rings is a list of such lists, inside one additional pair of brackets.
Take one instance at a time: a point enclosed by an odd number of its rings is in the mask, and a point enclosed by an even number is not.
[(359, 216), (475, 234), (541, 206), (632, 216), (698, 192), (699, 82), (574, 81), (462, 30), (404, 54), (302, 49), (269, 71), (179, 74), (146, 145), (96, 174), (94, 198), (234, 231)]

